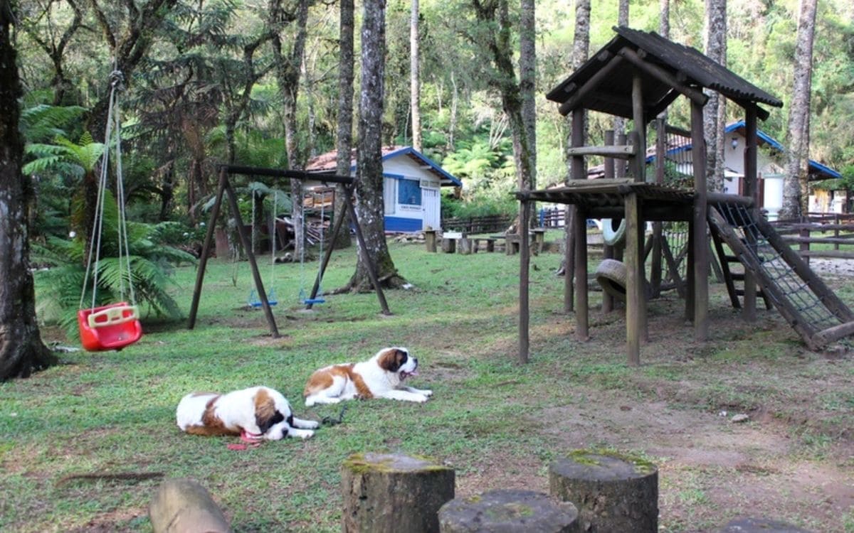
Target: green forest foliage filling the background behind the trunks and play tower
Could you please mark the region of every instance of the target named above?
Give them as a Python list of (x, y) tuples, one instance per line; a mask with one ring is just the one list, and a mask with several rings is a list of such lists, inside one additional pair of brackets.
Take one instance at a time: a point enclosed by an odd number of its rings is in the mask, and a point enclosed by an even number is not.
[[(157, 4), (163, 23), (136, 28), (129, 13)], [(278, 4), (278, 3), (277, 3)], [(280, 46), (295, 42), (293, 9), (282, 7)], [(230, 157), (241, 165), (302, 168), (307, 159), (336, 148), (338, 119), (337, 3), (316, 2), (307, 14), (305, 53), (295, 103), (295, 152), (288, 161), (282, 92), (274, 69), (274, 48), (249, 45), (269, 23), (264, 1), (196, 1), (104, 3), (97, 0), (23, 0), (15, 32), (27, 116), (44, 106), (78, 109), (85, 117), (109, 88), (111, 49), (120, 49), (132, 32), (143, 32), (137, 67), (125, 80), (121, 96), (126, 125), (125, 180), (132, 220), (175, 220), (192, 228), (215, 183), (215, 165)], [(129, 11), (128, 6), (131, 7)], [(631, 2), (629, 26), (658, 31), (658, 0)], [(703, 49), (704, 3), (670, 3), (670, 38)], [(514, 10), (517, 12), (514, 13)], [(510, 16), (518, 17), (518, 5)], [(563, 144), (568, 124), (545, 100), (570, 72), (575, 26), (570, 3), (536, 3), (536, 176), (537, 185), (564, 181)], [(727, 67), (786, 103), (759, 127), (785, 141), (787, 105), (793, 85), (798, 2), (730, 0), (727, 3)], [(514, 19), (514, 22), (518, 20)], [(590, 50), (614, 33), (617, 2), (593, 3)], [(412, 144), (410, 106), (411, 3), (390, 0), (386, 6), (385, 105), (383, 145)], [(418, 68), (424, 154), (462, 178), (462, 202), (445, 202), (446, 214), (492, 214), (515, 211), (508, 192), (517, 188), (512, 142), (494, 72), (484, 60), (478, 22), (469, 3), (422, 0), (419, 5)], [(355, 9), (355, 55), (360, 54), (360, 9)], [(518, 23), (512, 24), (518, 28)], [(104, 28), (111, 28), (112, 32)], [(291, 34), (289, 34), (289, 32)], [(518, 32), (512, 36), (518, 39)], [(118, 42), (117, 42), (118, 41)], [(112, 46), (111, 46), (112, 45)], [(513, 47), (518, 49), (518, 45)], [(359, 95), (359, 61), (355, 61), (355, 95)], [(244, 96), (246, 96), (244, 100)], [(810, 158), (842, 171), (845, 186), (854, 183), (854, 4), (827, 0), (818, 4), (813, 50), (810, 111)], [(31, 110), (27, 115), (26, 110)], [(730, 107), (730, 113), (737, 109)], [(70, 113), (73, 116), (73, 112)], [(36, 115), (41, 116), (41, 115)], [(69, 113), (57, 115), (67, 118)], [(730, 120), (739, 119), (733, 115)], [(594, 116), (590, 136), (602, 136), (610, 119)], [(687, 126), (687, 107), (671, 108), (670, 123)], [(59, 124), (65, 139), (79, 146), (87, 120)], [(231, 131), (233, 130), (233, 131)], [(25, 130), (25, 135), (28, 132)], [(27, 140), (56, 142), (43, 129), (30, 128)], [(91, 131), (97, 138), (97, 132)], [(38, 138), (41, 136), (41, 138)], [(231, 156), (233, 152), (233, 156)], [(30, 160), (36, 155), (32, 150)], [(43, 161), (44, 162), (44, 161)], [(56, 164), (56, 159), (48, 163)], [(50, 175), (39, 167), (39, 206), (34, 235), (61, 235), (62, 213), (71, 212), (74, 178)], [(32, 167), (31, 167), (32, 169)], [(61, 172), (59, 172), (61, 174)], [(67, 218), (67, 217), (65, 217)]]

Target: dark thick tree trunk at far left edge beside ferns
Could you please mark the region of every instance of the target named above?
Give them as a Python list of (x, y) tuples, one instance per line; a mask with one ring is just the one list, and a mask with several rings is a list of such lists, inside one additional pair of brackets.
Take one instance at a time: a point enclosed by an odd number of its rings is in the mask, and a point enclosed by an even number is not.
[(20, 172), (18, 99), (22, 96), (15, 48), (9, 32), (11, 6), (0, 2), (0, 381), (26, 378), (56, 363), (42, 343), (36, 322), (36, 296), (30, 272), (27, 214), (32, 182)]

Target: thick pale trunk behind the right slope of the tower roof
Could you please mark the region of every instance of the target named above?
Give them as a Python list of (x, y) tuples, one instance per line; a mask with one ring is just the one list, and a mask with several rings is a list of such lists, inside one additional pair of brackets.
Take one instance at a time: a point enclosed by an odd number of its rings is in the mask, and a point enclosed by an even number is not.
[[(706, 0), (705, 55), (726, 65), (727, 59), (727, 0)], [(705, 130), (706, 187), (723, 190), (723, 121), (725, 99), (715, 90), (708, 90), (709, 101), (703, 109)]]

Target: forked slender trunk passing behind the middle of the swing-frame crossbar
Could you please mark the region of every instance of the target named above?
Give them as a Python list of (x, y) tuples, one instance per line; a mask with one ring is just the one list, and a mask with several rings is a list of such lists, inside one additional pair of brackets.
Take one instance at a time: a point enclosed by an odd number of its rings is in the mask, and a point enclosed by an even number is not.
[[(272, 49), (276, 63), (276, 79), (278, 90), (282, 95), (282, 110), (284, 114), (284, 148), (288, 154), (288, 167), (291, 170), (301, 170), (304, 166), (298, 154), (296, 142), (296, 98), (300, 90), (300, 71), (302, 56), (306, 45), (306, 25), (308, 21), (309, 0), (300, 0), (296, 4), (296, 13), (282, 13), (281, 0), (272, 0), (270, 12)], [(294, 16), (295, 15), (295, 16)], [(295, 20), (296, 37), (287, 56), (282, 52), (281, 20)], [(305, 213), (302, 206), (302, 180), (290, 180), (290, 197), (292, 199), (292, 215), (294, 218), (294, 257), (301, 258), (305, 242)]]

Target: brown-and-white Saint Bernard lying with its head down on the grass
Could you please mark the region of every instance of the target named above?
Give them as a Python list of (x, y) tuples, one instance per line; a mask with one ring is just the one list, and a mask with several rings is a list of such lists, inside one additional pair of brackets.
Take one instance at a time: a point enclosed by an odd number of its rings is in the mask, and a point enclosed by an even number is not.
[(178, 427), (193, 435), (239, 435), (245, 442), (308, 438), (319, 426), (295, 418), (288, 400), (270, 387), (250, 387), (228, 394), (193, 392), (181, 398)]

